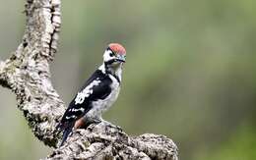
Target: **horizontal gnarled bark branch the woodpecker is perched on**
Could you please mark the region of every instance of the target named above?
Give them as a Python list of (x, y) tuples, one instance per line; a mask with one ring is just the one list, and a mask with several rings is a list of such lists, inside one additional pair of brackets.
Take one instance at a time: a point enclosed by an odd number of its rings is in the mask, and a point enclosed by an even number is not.
[(168, 159), (178, 160), (177, 146), (163, 135), (129, 136), (121, 129), (100, 123), (78, 130), (67, 143), (48, 156), (53, 159)]

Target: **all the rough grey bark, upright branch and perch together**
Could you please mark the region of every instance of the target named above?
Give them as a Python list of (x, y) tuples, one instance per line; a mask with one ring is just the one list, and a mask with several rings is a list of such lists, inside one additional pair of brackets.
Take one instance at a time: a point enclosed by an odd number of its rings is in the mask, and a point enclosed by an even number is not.
[[(25, 13), (22, 43), (9, 59), (0, 60), (0, 84), (16, 94), (32, 133), (56, 147), (59, 134), (53, 131), (65, 106), (51, 84), (49, 62), (57, 51), (60, 0), (27, 0)], [(163, 135), (129, 136), (118, 127), (100, 123), (75, 131), (46, 159), (177, 160), (177, 146)]]

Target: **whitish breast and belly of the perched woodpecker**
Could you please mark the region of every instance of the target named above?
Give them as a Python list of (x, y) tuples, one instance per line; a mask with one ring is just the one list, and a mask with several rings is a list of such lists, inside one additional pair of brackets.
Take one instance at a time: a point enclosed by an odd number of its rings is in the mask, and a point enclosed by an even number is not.
[(109, 77), (112, 80), (110, 85), (111, 93), (105, 99), (93, 102), (94, 107), (91, 111), (88, 112), (87, 116), (101, 118), (102, 112), (109, 109), (111, 105), (116, 101), (120, 91), (120, 84), (113, 76), (109, 75)]

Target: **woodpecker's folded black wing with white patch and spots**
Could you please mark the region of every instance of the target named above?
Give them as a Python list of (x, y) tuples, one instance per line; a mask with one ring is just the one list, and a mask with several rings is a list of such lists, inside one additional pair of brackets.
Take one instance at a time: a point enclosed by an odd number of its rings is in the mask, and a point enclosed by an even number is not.
[(92, 108), (93, 101), (104, 99), (110, 94), (111, 82), (111, 79), (97, 70), (71, 101), (58, 128), (61, 130), (73, 128), (74, 123)]

